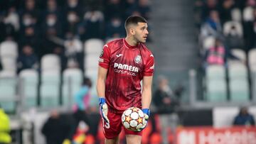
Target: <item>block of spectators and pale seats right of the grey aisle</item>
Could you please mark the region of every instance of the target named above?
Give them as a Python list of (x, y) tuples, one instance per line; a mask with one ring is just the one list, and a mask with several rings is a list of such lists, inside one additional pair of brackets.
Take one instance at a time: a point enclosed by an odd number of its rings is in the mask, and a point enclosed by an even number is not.
[(252, 99), (256, 79), (256, 1), (196, 0), (194, 4), (206, 93), (201, 99)]

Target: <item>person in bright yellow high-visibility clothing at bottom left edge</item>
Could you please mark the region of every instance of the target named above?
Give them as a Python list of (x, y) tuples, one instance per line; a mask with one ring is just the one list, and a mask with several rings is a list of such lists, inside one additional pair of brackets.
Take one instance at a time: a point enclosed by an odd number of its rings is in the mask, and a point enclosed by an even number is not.
[(4, 109), (1, 109), (0, 106), (0, 144), (9, 144), (11, 143), (10, 135), (10, 120), (9, 116), (4, 112)]

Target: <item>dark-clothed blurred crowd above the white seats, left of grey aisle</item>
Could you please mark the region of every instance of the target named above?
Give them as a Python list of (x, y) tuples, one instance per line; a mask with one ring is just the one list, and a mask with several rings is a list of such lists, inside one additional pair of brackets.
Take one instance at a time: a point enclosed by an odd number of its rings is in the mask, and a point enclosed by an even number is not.
[(125, 36), (127, 16), (137, 14), (148, 19), (150, 11), (147, 0), (12, 0), (0, 3), (0, 43), (12, 40), (18, 44), (18, 72), (26, 68), (38, 69), (40, 65), (36, 64), (49, 53), (61, 57), (62, 70), (74, 66), (84, 70), (82, 43), (85, 40), (121, 38)]

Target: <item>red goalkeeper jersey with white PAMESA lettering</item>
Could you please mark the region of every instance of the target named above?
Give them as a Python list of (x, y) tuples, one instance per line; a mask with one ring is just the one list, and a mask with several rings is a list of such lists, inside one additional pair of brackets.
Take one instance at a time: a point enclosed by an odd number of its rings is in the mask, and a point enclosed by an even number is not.
[(154, 56), (146, 45), (131, 46), (124, 38), (113, 40), (104, 45), (99, 65), (108, 70), (105, 98), (110, 110), (142, 109), (140, 82), (154, 72)]

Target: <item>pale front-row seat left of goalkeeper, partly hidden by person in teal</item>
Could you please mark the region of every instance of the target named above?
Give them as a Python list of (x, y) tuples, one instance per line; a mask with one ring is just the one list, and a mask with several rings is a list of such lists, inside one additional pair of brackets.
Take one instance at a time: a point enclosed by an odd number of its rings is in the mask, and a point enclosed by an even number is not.
[(82, 85), (82, 70), (69, 68), (63, 71), (62, 96), (63, 105), (73, 104), (73, 96)]

